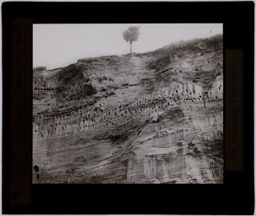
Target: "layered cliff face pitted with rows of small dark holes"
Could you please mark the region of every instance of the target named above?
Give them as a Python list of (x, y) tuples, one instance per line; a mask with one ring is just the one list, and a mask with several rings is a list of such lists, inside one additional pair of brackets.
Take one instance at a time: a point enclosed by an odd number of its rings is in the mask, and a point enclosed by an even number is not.
[(34, 69), (34, 183), (222, 183), (222, 37)]

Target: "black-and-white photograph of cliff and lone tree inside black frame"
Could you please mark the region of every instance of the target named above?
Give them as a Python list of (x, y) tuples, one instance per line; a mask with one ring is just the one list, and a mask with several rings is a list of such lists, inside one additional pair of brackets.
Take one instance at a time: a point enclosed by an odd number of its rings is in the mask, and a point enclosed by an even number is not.
[(222, 184), (222, 23), (33, 24), (34, 184)]

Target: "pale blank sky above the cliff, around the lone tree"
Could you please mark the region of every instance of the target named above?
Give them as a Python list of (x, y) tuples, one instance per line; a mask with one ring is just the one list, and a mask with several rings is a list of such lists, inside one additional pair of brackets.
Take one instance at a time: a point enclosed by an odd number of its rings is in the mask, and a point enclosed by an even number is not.
[[(175, 41), (222, 34), (222, 23), (33, 24), (33, 67), (66, 67), (78, 59), (123, 55), (128, 27), (140, 27), (132, 52), (148, 52)], [(211, 31), (211, 34), (210, 34)]]

